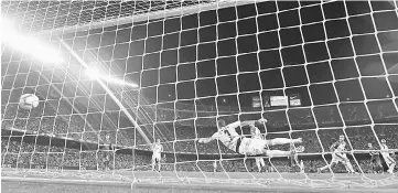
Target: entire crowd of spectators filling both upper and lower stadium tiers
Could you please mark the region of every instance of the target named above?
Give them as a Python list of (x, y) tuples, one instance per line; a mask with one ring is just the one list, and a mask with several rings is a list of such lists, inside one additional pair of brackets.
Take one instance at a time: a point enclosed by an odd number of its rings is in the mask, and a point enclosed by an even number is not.
[[(150, 122), (153, 119), (157, 120), (157, 124), (144, 124), (144, 121), (139, 124), (141, 124), (141, 129), (149, 136), (151, 141), (153, 141), (153, 138), (162, 140), (165, 151), (163, 170), (212, 171), (214, 159), (218, 160), (217, 156), (219, 154), (233, 156), (230, 160), (223, 159), (218, 162), (220, 165), (219, 170), (223, 169), (230, 172), (254, 170), (252, 159), (234, 158), (235, 152), (217, 141), (212, 141), (207, 144), (197, 142), (198, 138), (211, 137), (217, 130), (215, 127), (216, 115), (223, 115), (223, 119), (227, 122), (241, 119), (239, 117), (241, 115), (236, 114), (234, 109), (225, 108), (224, 111), (218, 111), (219, 114), (217, 114), (217, 111), (212, 111), (215, 108), (195, 107), (184, 104), (173, 105), (172, 108), (166, 108), (166, 106), (154, 108), (157, 110), (152, 110), (152, 112), (150, 109), (153, 108), (146, 108), (144, 110), (146, 114), (151, 114), (148, 115), (149, 119), (146, 120)], [(44, 133), (49, 137), (67, 138), (67, 140), (75, 140), (82, 143), (92, 142), (98, 144), (103, 144), (105, 136), (109, 135), (115, 147), (143, 150), (142, 152), (144, 153), (132, 150), (131, 153), (116, 151), (112, 157), (115, 169), (133, 168), (135, 170), (146, 170), (150, 164), (150, 153), (148, 151), (150, 146), (147, 144), (141, 133), (135, 127), (117, 128), (103, 126), (104, 119), (108, 121), (108, 124), (105, 124), (107, 126), (115, 120), (111, 114), (103, 117), (100, 114), (58, 115), (53, 117), (18, 115), (17, 117), (11, 117), (13, 119), (7, 116), (2, 121), (2, 129), (18, 128), (25, 130), (30, 135)], [(28, 118), (20, 119), (18, 117)], [(116, 126), (125, 125), (120, 122), (122, 120), (120, 114), (120, 117), (116, 118), (119, 121)], [(368, 142), (378, 147), (378, 140), (380, 139), (386, 139), (390, 149), (398, 149), (396, 140), (398, 139), (398, 130), (396, 125), (383, 125), (383, 122), (397, 122), (398, 120), (395, 106), (388, 103), (380, 101), (376, 105), (369, 104), (367, 106), (340, 106), (338, 108), (336, 106), (322, 106), (313, 109), (276, 109), (265, 112), (263, 117), (269, 120), (267, 124), (267, 138), (303, 138), (305, 153), (310, 156), (302, 156), (300, 158), (303, 159), (308, 172), (315, 172), (318, 167), (325, 164), (325, 161), (322, 159), (323, 157), (313, 154), (327, 153), (330, 151), (329, 147), (338, 139), (340, 135), (345, 135), (348, 138), (348, 150), (364, 150)], [(93, 121), (87, 121), (92, 119)], [(248, 118), (245, 117), (244, 119)], [(335, 127), (329, 128), (329, 126)], [(265, 128), (260, 127), (260, 130), (265, 131)], [(247, 129), (241, 129), (240, 133), (248, 135)], [(98, 149), (80, 150), (67, 147), (40, 146), (35, 142), (12, 140), (12, 136), (2, 138), (1, 149), (1, 163), (3, 167), (68, 165), (79, 169), (100, 169), (104, 167), (104, 156)], [(289, 146), (281, 146), (278, 149), (288, 150)], [(196, 154), (214, 154), (215, 157), (197, 160)], [(330, 158), (327, 157), (326, 159)], [(291, 171), (288, 159), (271, 159), (270, 161), (272, 164), (269, 163), (269, 165), (272, 165), (270, 167), (272, 171)], [(361, 157), (357, 161), (364, 172), (369, 171), (367, 157)], [(359, 169), (357, 165), (356, 168)], [(337, 168), (336, 171), (344, 171), (344, 169)]]

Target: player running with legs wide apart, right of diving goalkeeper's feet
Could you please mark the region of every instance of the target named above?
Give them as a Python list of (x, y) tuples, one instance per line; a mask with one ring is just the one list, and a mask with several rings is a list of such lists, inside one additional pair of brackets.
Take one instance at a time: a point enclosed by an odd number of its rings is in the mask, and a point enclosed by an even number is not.
[(331, 164), (326, 164), (326, 165), (324, 165), (322, 168), (319, 168), (318, 173), (321, 173), (323, 170), (326, 170), (329, 168), (333, 168), (338, 162), (344, 164), (344, 167), (348, 171), (348, 173), (356, 173), (354, 171), (353, 165), (349, 162), (349, 159), (347, 158), (347, 154), (344, 152), (345, 151), (345, 146), (346, 146), (346, 142), (344, 141), (344, 136), (342, 135), (342, 136), (340, 136), (340, 140), (334, 142), (331, 146), (331, 152), (332, 152)]

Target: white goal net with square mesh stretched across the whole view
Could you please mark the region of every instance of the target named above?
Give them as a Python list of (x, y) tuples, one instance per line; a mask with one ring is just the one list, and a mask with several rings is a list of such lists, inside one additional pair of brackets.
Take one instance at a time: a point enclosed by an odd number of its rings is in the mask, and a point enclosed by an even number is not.
[[(367, 146), (398, 149), (396, 1), (3, 1), (1, 12), (2, 175), (392, 183), (375, 178)], [(260, 156), (259, 173), (255, 157), (198, 142), (219, 119), (260, 118), (266, 139), (302, 138), (305, 151)], [(316, 174), (340, 136), (358, 180), (338, 181), (340, 164)]]

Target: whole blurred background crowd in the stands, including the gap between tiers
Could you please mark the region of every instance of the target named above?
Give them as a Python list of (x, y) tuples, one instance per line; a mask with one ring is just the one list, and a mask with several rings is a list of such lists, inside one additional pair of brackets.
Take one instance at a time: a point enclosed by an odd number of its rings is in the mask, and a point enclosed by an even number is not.
[[(218, 160), (219, 171), (256, 170), (252, 158), (241, 158), (217, 141), (207, 144), (197, 142), (198, 138), (209, 137), (217, 130), (215, 119), (192, 120), (190, 117), (195, 112), (187, 107), (175, 114), (173, 110), (166, 109), (161, 112), (160, 117), (165, 121), (159, 121), (161, 124), (155, 127), (162, 131), (161, 141), (164, 147), (162, 170), (213, 171), (214, 160)], [(205, 114), (205, 111), (202, 112)], [(207, 114), (212, 114), (212, 111)], [(179, 117), (171, 118), (175, 115)], [(169, 116), (170, 118), (168, 118)], [(333, 107), (316, 108), (313, 111), (305, 108), (275, 110), (266, 112), (263, 117), (268, 119), (267, 126), (258, 127), (263, 133), (267, 133), (268, 139), (303, 138), (302, 146), (305, 147), (305, 152), (299, 157), (299, 160), (303, 160), (306, 172), (316, 172), (316, 168), (326, 164), (325, 161), (330, 161), (329, 148), (338, 139), (340, 135), (348, 138), (347, 150), (366, 150), (368, 142), (378, 147), (380, 139), (386, 139), (390, 149), (398, 149), (397, 125), (388, 124), (398, 118), (391, 106), (379, 106), (373, 109), (352, 106), (341, 107), (340, 110)], [(226, 111), (223, 117), (228, 124), (240, 118), (239, 115), (228, 115)], [(256, 116), (245, 117), (245, 119), (256, 118)], [(26, 127), (23, 127), (26, 130), (15, 129), (19, 128), (20, 119), (15, 119), (12, 125), (3, 121), (2, 167), (62, 168), (67, 165), (75, 169), (101, 169), (105, 162), (104, 151), (101, 151), (105, 136), (110, 137), (110, 143), (114, 147), (114, 151), (110, 153), (111, 168), (147, 170), (150, 167), (150, 144), (146, 143), (135, 128), (83, 130), (85, 124), (80, 122), (82, 120), (71, 118), (69, 124), (62, 120), (54, 124), (46, 121), (45, 117), (29, 119), (28, 122), (24, 122)], [(154, 125), (152, 125), (152, 129)], [(141, 128), (150, 130), (146, 126)], [(155, 129), (152, 135), (153, 132)], [(238, 132), (249, 135), (247, 128), (241, 128)], [(272, 149), (289, 150), (289, 146), (272, 147)], [(322, 153), (325, 156), (323, 157)], [(356, 170), (359, 171), (361, 168), (363, 172), (370, 172), (369, 156), (364, 152), (355, 153), (355, 157), (349, 158)], [(288, 158), (266, 160), (269, 165), (266, 171), (269, 172), (294, 172), (297, 170)], [(341, 167), (335, 171), (344, 170)]]

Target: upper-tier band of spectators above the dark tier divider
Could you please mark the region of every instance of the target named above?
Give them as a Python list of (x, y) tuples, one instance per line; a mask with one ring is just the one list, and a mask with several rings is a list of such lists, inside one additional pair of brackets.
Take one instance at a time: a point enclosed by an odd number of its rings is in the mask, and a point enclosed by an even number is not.
[[(57, 104), (55, 104), (57, 105)], [(67, 108), (65, 104), (60, 103), (56, 109)], [(40, 107), (37, 107), (40, 108)], [(14, 127), (28, 129), (32, 132), (52, 133), (57, 136), (67, 136), (72, 133), (85, 133), (83, 140), (96, 141), (98, 138), (95, 132), (118, 131), (121, 129), (133, 128), (131, 121), (123, 112), (119, 111), (94, 111), (88, 114), (50, 114), (46, 111), (51, 104), (42, 109), (34, 109), (31, 114), (25, 110), (18, 110), (14, 104), (8, 105), (4, 114), (2, 128)], [(54, 107), (55, 108), (55, 107)], [(53, 109), (54, 111), (55, 109)], [(218, 110), (218, 111), (217, 111)], [(220, 111), (225, 110), (225, 111)], [(229, 110), (229, 111), (228, 111)], [(174, 125), (194, 127), (196, 129), (214, 127), (216, 118), (223, 118), (227, 122), (245, 120), (261, 117), (261, 109), (252, 108), (250, 110), (237, 111), (233, 108), (218, 108), (195, 106), (184, 103), (149, 104), (132, 110), (137, 115), (137, 122), (146, 128), (148, 132), (151, 127), (161, 128), (162, 125)], [(43, 111), (43, 116), (35, 115), (33, 111)], [(55, 110), (56, 111), (56, 110)], [(249, 115), (246, 115), (249, 114)], [(56, 115), (56, 116), (55, 116)], [(343, 125), (367, 125), (396, 121), (398, 117), (395, 105), (388, 101), (375, 101), (368, 104), (342, 104), (332, 106), (315, 106), (300, 108), (267, 109), (262, 117), (269, 120), (267, 125), (269, 130), (302, 130), (311, 128), (327, 128), (333, 124), (337, 127)], [(154, 124), (155, 122), (155, 124)], [(170, 126), (168, 126), (170, 127)], [(164, 132), (171, 133), (173, 132)], [(164, 135), (163, 133), (163, 135)], [(149, 135), (150, 136), (150, 135)], [(174, 136), (170, 136), (173, 138)], [(191, 139), (191, 138), (189, 138)]]

